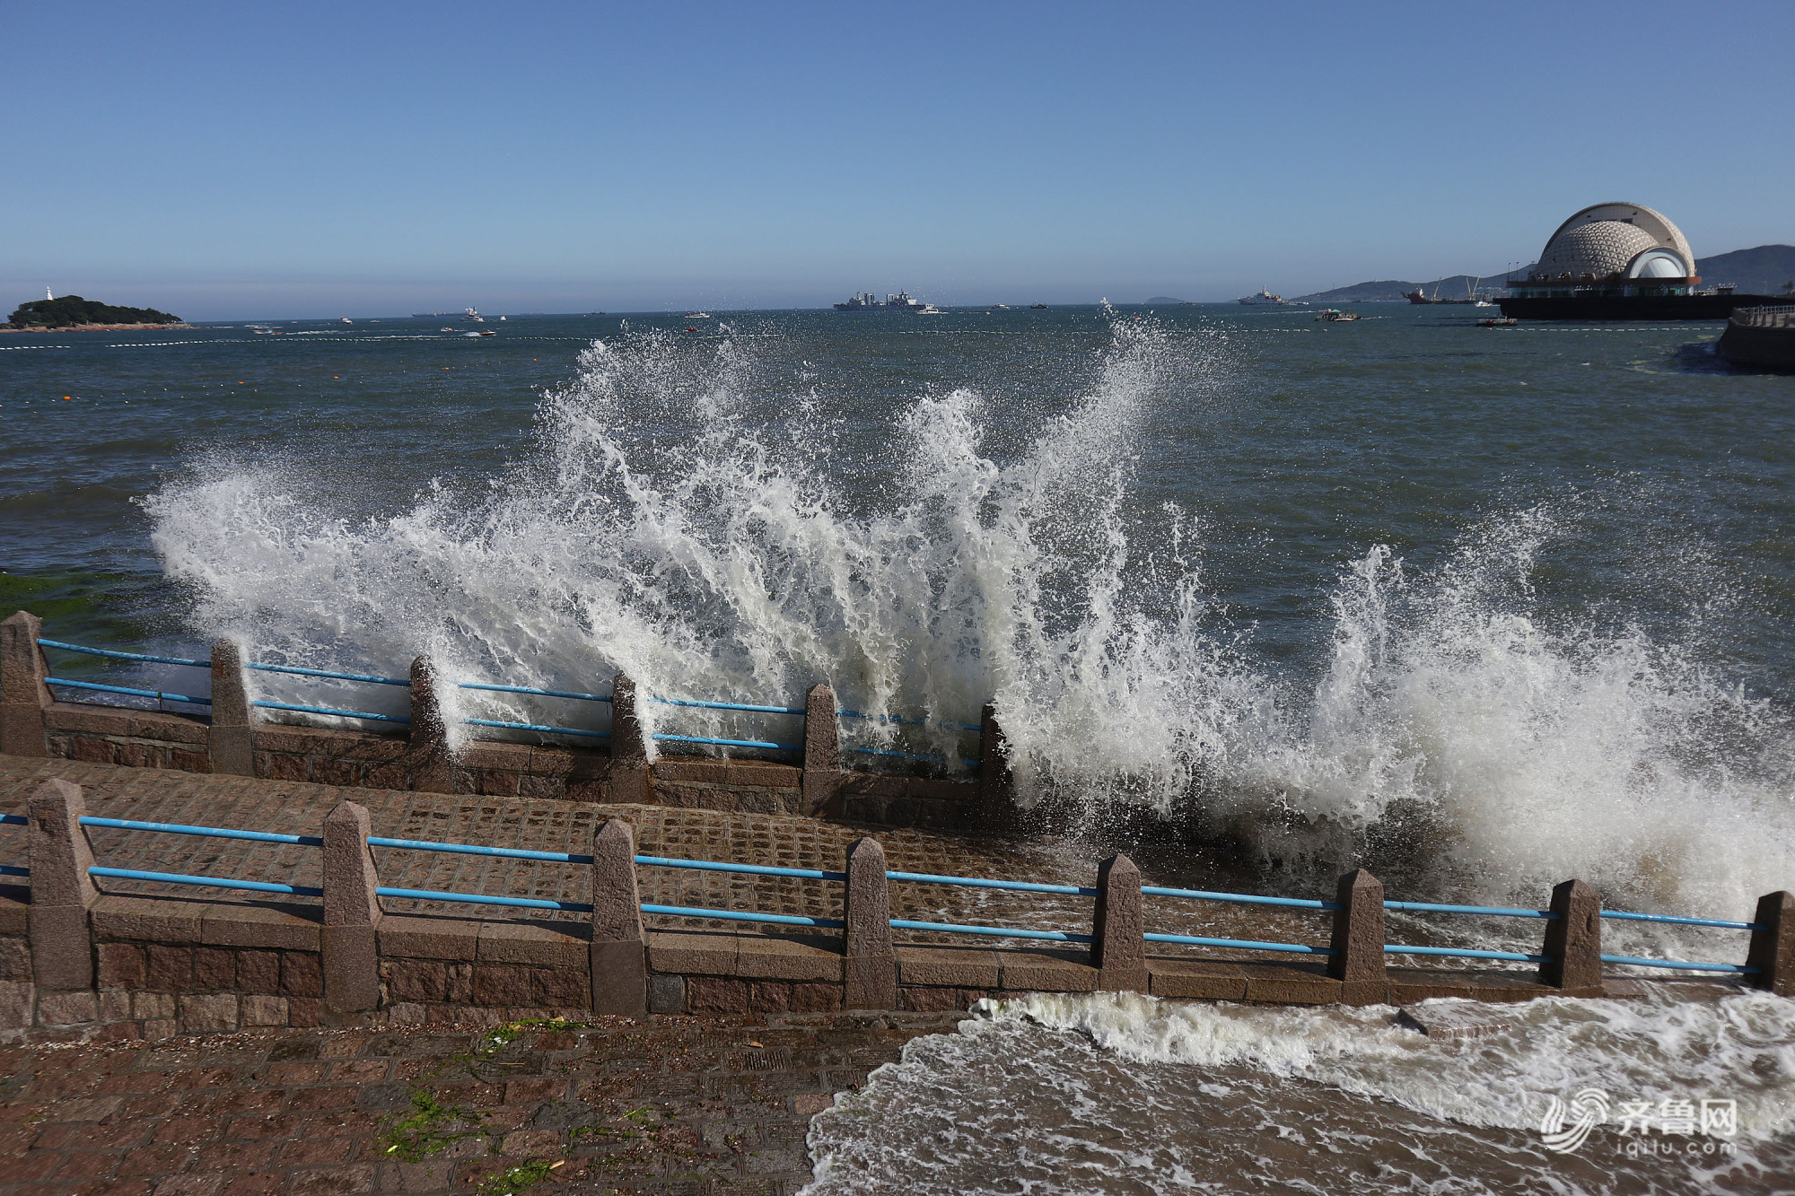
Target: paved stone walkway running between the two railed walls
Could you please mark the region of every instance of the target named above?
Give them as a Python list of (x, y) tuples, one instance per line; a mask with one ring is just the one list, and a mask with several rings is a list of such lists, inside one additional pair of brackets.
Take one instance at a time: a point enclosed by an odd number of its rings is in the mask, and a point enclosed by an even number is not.
[[(303, 781), (273, 781), (75, 760), (25, 760), (0, 756), (0, 812), (16, 812), (31, 790), (47, 778), (63, 778), (86, 792), (88, 812), (147, 822), (187, 822), (318, 835), (325, 813), (339, 801), (364, 805), (377, 835), (438, 842), (477, 842), (537, 851), (591, 851), (592, 831), (619, 815), (635, 826), (637, 851), (671, 858), (729, 860), (784, 867), (842, 869), (847, 846), (862, 835), (876, 837), (892, 871), (1038, 880), (1093, 885), (1095, 848), (1077, 842), (1014, 842), (924, 830), (856, 828), (806, 817), (725, 813), (673, 806), (603, 806), (533, 797), (483, 797), (474, 794), (418, 794), (411, 790), (355, 788)], [(142, 871), (237, 876), (285, 884), (320, 884), (320, 853), (314, 848), (248, 844), (185, 835), (151, 835), (95, 828), (90, 831), (95, 860), (109, 867)], [(0, 864), (23, 864), (23, 837), (0, 828)], [(402, 889), (490, 893), (562, 901), (589, 901), (591, 876), (583, 867), (501, 860), (468, 855), (377, 849), (381, 882)], [(1192, 875), (1142, 860), (1147, 884), (1231, 887), (1215, 875)], [(698, 873), (691, 869), (639, 869), (643, 901), (705, 909), (738, 909), (811, 918), (840, 916), (840, 885), (820, 880), (784, 880)], [(192, 896), (190, 887), (108, 880), (109, 893)], [(1323, 894), (1314, 894), (1323, 896)], [(386, 898), (391, 912), (434, 912), (458, 918), (506, 916), (497, 907)], [(531, 914), (535, 916), (535, 914)], [(582, 914), (544, 914), (582, 918)], [(1091, 900), (1034, 893), (1000, 893), (930, 884), (892, 885), (892, 916), (912, 921), (1014, 925), (1090, 932)], [(1149, 930), (1203, 934), (1237, 939), (1327, 943), (1328, 923), (1300, 910), (1215, 905), (1203, 901), (1152, 900)], [(689, 918), (655, 918), (650, 925), (695, 928), (707, 923)], [(723, 927), (725, 923), (709, 923)], [(727, 923), (741, 930), (740, 923)], [(966, 936), (901, 932), (901, 941), (964, 945)], [(1174, 948), (1178, 950), (1178, 948)], [(1203, 948), (1206, 957), (1219, 952)], [(1221, 952), (1226, 955), (1226, 952)], [(1240, 957), (1251, 957), (1235, 952)]]

